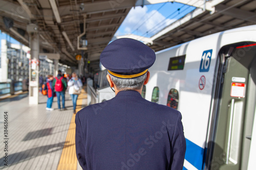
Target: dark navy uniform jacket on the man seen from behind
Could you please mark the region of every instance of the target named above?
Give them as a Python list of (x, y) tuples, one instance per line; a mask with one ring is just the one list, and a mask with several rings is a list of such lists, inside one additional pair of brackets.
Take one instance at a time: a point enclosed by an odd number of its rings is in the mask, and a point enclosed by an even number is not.
[(179, 170), (186, 141), (181, 113), (137, 91), (90, 105), (76, 114), (76, 154), (83, 169)]

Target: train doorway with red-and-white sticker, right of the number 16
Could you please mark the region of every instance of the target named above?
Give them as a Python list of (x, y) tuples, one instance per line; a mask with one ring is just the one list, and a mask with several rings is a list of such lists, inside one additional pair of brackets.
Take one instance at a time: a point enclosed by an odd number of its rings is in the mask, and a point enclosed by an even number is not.
[(256, 103), (256, 44), (233, 44), (222, 52), (206, 169), (247, 169)]

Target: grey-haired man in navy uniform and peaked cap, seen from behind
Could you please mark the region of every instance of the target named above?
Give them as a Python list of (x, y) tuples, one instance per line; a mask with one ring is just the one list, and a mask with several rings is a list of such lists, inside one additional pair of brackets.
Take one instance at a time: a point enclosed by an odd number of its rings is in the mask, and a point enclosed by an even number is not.
[(150, 47), (130, 38), (111, 42), (101, 53), (116, 96), (76, 114), (76, 155), (83, 169), (183, 168), (181, 113), (141, 96), (155, 60)]

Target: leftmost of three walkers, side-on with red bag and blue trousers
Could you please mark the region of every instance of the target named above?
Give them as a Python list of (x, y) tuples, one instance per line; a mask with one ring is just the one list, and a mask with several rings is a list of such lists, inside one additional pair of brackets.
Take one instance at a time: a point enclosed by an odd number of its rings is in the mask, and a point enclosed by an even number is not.
[(54, 87), (52, 85), (53, 81), (53, 76), (49, 75), (47, 78), (47, 83), (46, 83), (46, 88), (47, 88), (47, 104), (46, 104), (46, 110), (53, 111), (54, 109), (52, 108), (52, 102), (53, 102), (53, 97), (55, 95), (54, 92)]

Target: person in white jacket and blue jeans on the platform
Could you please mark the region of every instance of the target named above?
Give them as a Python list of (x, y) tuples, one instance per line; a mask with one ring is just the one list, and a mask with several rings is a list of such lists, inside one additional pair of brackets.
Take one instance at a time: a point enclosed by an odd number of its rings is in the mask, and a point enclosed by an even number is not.
[(80, 79), (78, 79), (76, 72), (72, 73), (72, 78), (68, 82), (69, 86), (69, 94), (71, 96), (72, 102), (73, 102), (73, 113), (76, 114), (76, 101), (78, 94), (74, 94), (75, 90), (79, 90), (80, 87), (82, 87), (82, 82)]

